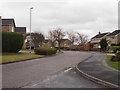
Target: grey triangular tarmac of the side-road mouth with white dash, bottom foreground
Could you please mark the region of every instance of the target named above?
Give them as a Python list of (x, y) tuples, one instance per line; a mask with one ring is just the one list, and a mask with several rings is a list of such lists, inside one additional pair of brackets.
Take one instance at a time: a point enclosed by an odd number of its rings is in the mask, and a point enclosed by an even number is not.
[(73, 68), (61, 70), (53, 75), (23, 88), (105, 88), (78, 75)]

